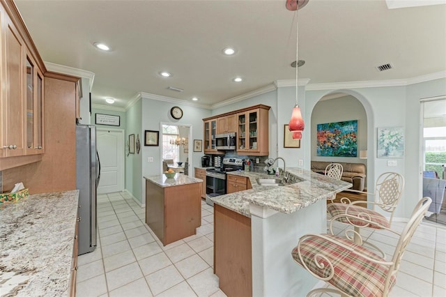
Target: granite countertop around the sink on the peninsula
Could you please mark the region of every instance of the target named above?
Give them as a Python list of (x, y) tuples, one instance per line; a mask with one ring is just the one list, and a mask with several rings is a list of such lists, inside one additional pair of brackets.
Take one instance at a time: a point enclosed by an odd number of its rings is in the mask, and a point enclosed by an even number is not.
[(211, 197), (211, 199), (215, 204), (251, 217), (250, 203), (280, 213), (293, 213), (300, 208), (305, 208), (352, 186), (351, 183), (316, 174), (302, 168), (287, 168), (286, 172), (290, 176), (289, 183), (277, 187), (257, 183), (257, 178), (275, 178), (275, 176), (264, 172), (228, 172), (228, 174), (248, 177), (252, 189)]

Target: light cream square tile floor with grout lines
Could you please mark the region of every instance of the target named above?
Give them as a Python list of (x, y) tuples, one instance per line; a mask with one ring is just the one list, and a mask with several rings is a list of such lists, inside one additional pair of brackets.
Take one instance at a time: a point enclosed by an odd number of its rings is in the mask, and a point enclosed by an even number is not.
[[(164, 247), (145, 224), (145, 209), (128, 194), (99, 195), (98, 248), (78, 258), (77, 296), (226, 296), (213, 275), (213, 208), (204, 201), (201, 215), (197, 235)], [(394, 222), (393, 227), (403, 225)], [(388, 254), (394, 237), (369, 232), (369, 240)], [(390, 296), (446, 296), (444, 227), (420, 225)]]

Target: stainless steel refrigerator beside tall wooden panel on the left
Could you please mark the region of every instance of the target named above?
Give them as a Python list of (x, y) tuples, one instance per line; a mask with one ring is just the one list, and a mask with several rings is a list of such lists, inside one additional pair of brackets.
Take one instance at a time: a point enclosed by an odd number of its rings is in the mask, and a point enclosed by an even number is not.
[(96, 150), (96, 127), (76, 125), (76, 188), (79, 190), (79, 254), (96, 248), (96, 189), (100, 162)]

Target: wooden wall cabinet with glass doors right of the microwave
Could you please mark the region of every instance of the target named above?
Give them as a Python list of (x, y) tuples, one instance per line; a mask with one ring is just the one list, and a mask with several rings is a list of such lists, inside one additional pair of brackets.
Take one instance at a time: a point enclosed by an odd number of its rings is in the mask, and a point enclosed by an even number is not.
[(237, 153), (268, 155), (268, 111), (270, 107), (246, 110), (237, 114)]

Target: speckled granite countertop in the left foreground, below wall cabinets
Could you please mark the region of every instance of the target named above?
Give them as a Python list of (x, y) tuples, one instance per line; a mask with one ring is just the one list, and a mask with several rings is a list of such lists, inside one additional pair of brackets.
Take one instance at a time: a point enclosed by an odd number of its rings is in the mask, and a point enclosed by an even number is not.
[(0, 296), (68, 296), (79, 191), (0, 206)]

